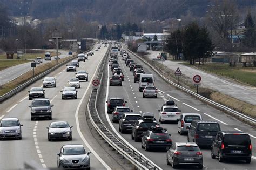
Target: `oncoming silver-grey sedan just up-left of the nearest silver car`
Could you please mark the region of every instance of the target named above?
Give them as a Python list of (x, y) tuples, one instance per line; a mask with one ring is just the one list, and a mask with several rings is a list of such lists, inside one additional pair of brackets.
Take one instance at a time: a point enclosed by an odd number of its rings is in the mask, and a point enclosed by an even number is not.
[(53, 121), (48, 129), (48, 141), (53, 139), (68, 139), (72, 140), (72, 128), (66, 121)]

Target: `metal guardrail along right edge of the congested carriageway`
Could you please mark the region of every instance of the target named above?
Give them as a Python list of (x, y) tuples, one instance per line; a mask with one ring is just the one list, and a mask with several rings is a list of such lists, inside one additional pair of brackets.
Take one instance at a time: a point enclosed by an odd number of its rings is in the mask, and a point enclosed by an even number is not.
[[(125, 47), (126, 47), (126, 46), (125, 46)], [(215, 107), (218, 107), (218, 108), (220, 108), (220, 109), (223, 109), (224, 111), (226, 111), (226, 112), (228, 112), (228, 113), (237, 115), (237, 117), (239, 117), (239, 118), (241, 118), (241, 119), (244, 119), (244, 120), (250, 122), (250, 123), (253, 124), (253, 125), (256, 124), (256, 119), (253, 119), (253, 118), (251, 118), (251, 117), (248, 117), (247, 115), (244, 115), (244, 114), (242, 114), (242, 113), (240, 113), (240, 112), (234, 111), (234, 110), (232, 110), (231, 108), (229, 108), (229, 107), (227, 107), (227, 106), (221, 105), (221, 104), (219, 104), (219, 103), (217, 103), (217, 102), (215, 102), (215, 101), (212, 101), (212, 100), (210, 100), (210, 99), (207, 99), (207, 98), (201, 96), (200, 94), (197, 94), (197, 93), (195, 93), (195, 92), (193, 92), (193, 91), (190, 91), (190, 90), (186, 89), (186, 88), (183, 87), (183, 86), (180, 86), (180, 85), (178, 85), (178, 84), (176, 84), (176, 83), (173, 83), (173, 81), (171, 81), (171, 80), (167, 79), (166, 77), (164, 77), (163, 74), (161, 74), (157, 69), (155, 69), (151, 64), (149, 64), (145, 59), (142, 59), (141, 57), (139, 57), (138, 55), (136, 55), (136, 53), (134, 53), (134, 52), (132, 52), (131, 50), (129, 50), (127, 47), (126, 47), (126, 49), (127, 49), (130, 53), (132, 53), (134, 56), (136, 56), (139, 60), (142, 60), (145, 64), (147, 64), (149, 67), (151, 67), (151, 69), (154, 70), (155, 72), (157, 72), (161, 78), (163, 78), (164, 80), (166, 80), (168, 83), (172, 84), (173, 86), (177, 87), (178, 89), (183, 90), (183, 91), (185, 91), (185, 92), (191, 94), (192, 96), (197, 97), (197, 98), (199, 98), (199, 99), (205, 101), (206, 103), (210, 103), (210, 104), (214, 105)]]

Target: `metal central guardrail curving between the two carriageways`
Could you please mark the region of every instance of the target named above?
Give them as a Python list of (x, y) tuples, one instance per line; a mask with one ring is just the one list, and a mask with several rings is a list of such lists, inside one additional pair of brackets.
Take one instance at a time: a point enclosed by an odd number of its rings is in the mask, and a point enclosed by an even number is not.
[[(106, 56), (109, 52), (104, 56), (105, 59), (100, 64), (99, 73), (97, 79), (102, 80), (103, 78), (103, 67), (106, 60)], [(99, 87), (100, 88), (100, 87)], [(95, 127), (96, 131), (104, 138), (106, 142), (109, 143), (118, 153), (123, 155), (124, 158), (129, 160), (134, 166), (138, 169), (160, 169), (157, 165), (152, 164), (150, 160), (145, 158), (144, 155), (134, 151), (131, 147), (127, 146), (122, 140), (116, 137), (114, 133), (109, 130), (109, 128), (103, 123), (100, 119), (96, 103), (98, 98), (98, 89), (93, 89), (90, 95), (89, 103), (87, 105), (87, 111), (89, 113), (89, 117), (93, 127)]]

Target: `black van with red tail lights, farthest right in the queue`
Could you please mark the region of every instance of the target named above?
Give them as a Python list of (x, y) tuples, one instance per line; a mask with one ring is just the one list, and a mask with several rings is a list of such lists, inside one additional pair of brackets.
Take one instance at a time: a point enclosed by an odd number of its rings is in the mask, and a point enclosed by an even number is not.
[(250, 164), (252, 143), (250, 136), (240, 131), (219, 131), (212, 143), (211, 156), (219, 162), (226, 158), (245, 160)]

